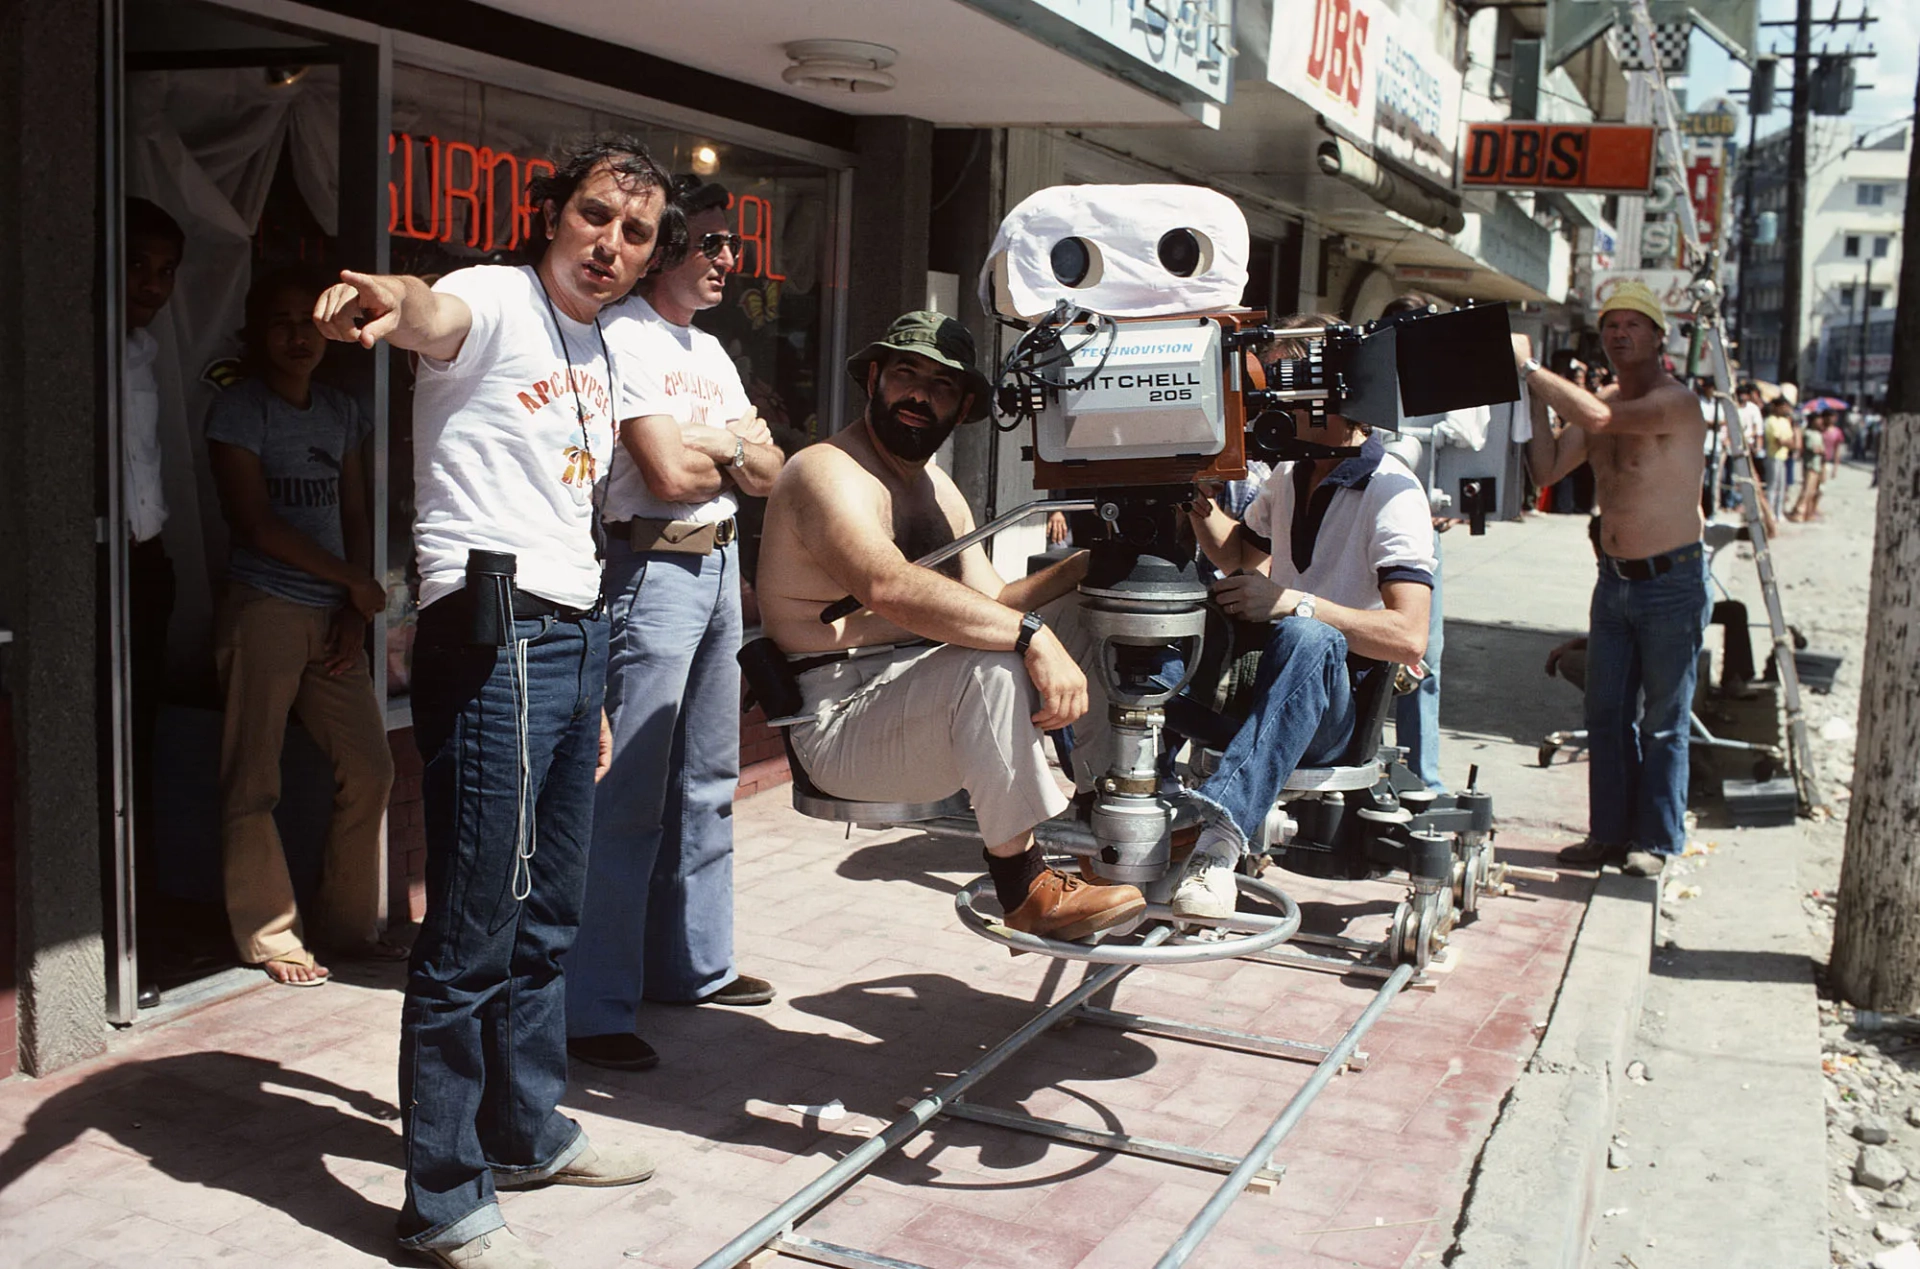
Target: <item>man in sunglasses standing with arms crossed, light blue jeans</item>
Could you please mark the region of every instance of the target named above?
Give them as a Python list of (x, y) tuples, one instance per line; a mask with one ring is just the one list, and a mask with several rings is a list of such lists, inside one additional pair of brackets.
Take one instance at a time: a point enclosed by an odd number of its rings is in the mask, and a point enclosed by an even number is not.
[(739, 259), (728, 192), (674, 180), (687, 257), (611, 309), (620, 445), (607, 507), (607, 718), (612, 766), (593, 808), (588, 902), (566, 968), (566, 1052), (637, 1071), (641, 1000), (766, 1004), (733, 968), (739, 781), (739, 495), (785, 461), (739, 371), (693, 315)]

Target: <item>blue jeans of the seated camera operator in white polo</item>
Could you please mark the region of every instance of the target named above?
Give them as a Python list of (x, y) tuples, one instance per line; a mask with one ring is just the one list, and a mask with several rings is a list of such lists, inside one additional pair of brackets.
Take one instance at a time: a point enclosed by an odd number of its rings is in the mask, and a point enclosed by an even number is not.
[(1273, 628), (1254, 678), (1254, 712), (1204, 785), (1192, 791), (1213, 824), (1244, 847), (1267, 820), (1296, 766), (1329, 766), (1354, 739), (1354, 680), (1346, 635), (1300, 616)]

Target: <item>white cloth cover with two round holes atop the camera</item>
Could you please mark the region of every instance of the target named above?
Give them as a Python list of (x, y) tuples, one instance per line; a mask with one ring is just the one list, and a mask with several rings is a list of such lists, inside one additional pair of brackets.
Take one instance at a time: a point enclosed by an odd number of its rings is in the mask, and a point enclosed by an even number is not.
[[(1160, 263), (1167, 230), (1200, 238), (1200, 269), (1177, 276)], [(1081, 238), (1092, 267), (1081, 286), (1054, 275), (1052, 250)], [(1231, 198), (1194, 184), (1056, 184), (1014, 207), (979, 276), (987, 311), (1035, 321), (1056, 301), (1108, 317), (1173, 317), (1240, 305), (1246, 217)]]

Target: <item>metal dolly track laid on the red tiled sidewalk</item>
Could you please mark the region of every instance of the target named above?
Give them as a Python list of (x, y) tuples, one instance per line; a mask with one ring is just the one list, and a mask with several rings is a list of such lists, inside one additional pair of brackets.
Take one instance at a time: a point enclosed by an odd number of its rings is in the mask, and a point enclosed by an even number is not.
[[(1171, 925), (1156, 925), (1139, 943), (1140, 948), (1154, 948), (1173, 937)], [(1284, 962), (1281, 962), (1284, 964)], [(806, 1259), (820, 1265), (835, 1265), (839, 1269), (924, 1269), (922, 1265), (912, 1265), (908, 1261), (891, 1259), (887, 1256), (877, 1256), (874, 1252), (864, 1252), (860, 1248), (839, 1246), (833, 1242), (820, 1242), (795, 1233), (795, 1225), (804, 1221), (808, 1215), (829, 1204), (839, 1196), (841, 1190), (856, 1183), (868, 1169), (872, 1169), (889, 1152), (904, 1146), (908, 1140), (918, 1137), (922, 1129), (927, 1127), (935, 1117), (960, 1117), (983, 1123), (995, 1123), (1000, 1127), (1012, 1127), (1025, 1133), (1041, 1133), (1046, 1137), (1056, 1137), (1062, 1140), (1075, 1140), (1079, 1144), (1089, 1144), (1104, 1150), (1123, 1150), (1129, 1154), (1142, 1154), (1146, 1158), (1158, 1158), (1173, 1163), (1185, 1163), (1188, 1167), (1206, 1167), (1210, 1171), (1225, 1171), (1227, 1177), (1221, 1181), (1219, 1188), (1208, 1200), (1208, 1204), (1194, 1215), (1192, 1223), (1181, 1233), (1171, 1248), (1160, 1257), (1156, 1269), (1175, 1269), (1185, 1265), (1187, 1257), (1192, 1256), (1194, 1248), (1219, 1225), (1221, 1217), (1233, 1206), (1233, 1200), (1248, 1188), (1248, 1185), (1261, 1179), (1277, 1179), (1279, 1169), (1273, 1165), (1273, 1152), (1279, 1144), (1292, 1133), (1294, 1125), (1308, 1112), (1313, 1100), (1327, 1089), (1332, 1077), (1352, 1062), (1359, 1041), (1373, 1029), (1373, 1023), (1380, 1019), (1386, 1008), (1394, 1002), (1394, 996), (1413, 981), (1415, 968), (1411, 964), (1402, 964), (1394, 968), (1386, 981), (1375, 991), (1373, 1000), (1361, 1010), (1354, 1025), (1346, 1029), (1346, 1035), (1329, 1048), (1317, 1044), (1300, 1044), (1292, 1041), (1277, 1041), (1273, 1037), (1256, 1037), (1238, 1031), (1227, 1031), (1219, 1027), (1196, 1027), (1192, 1023), (1177, 1023), (1171, 1019), (1144, 1018), (1135, 1014), (1121, 1014), (1116, 1010), (1100, 1010), (1089, 1006), (1089, 1000), (1102, 993), (1104, 989), (1116, 985), (1119, 979), (1127, 977), (1139, 964), (1104, 964), (1098, 966), (1085, 983), (1064, 994), (1054, 1004), (1041, 1010), (1025, 1025), (1008, 1035), (1004, 1041), (987, 1050), (979, 1062), (960, 1071), (954, 1079), (941, 1085), (939, 1089), (924, 1094), (893, 1121), (881, 1133), (864, 1140), (858, 1148), (839, 1160), (833, 1167), (824, 1171), (814, 1181), (806, 1183), (793, 1192), (783, 1204), (768, 1211), (764, 1217), (735, 1234), (726, 1246), (716, 1250), (712, 1256), (699, 1263), (699, 1269), (735, 1269), (743, 1263), (762, 1263), (762, 1257), (770, 1259), (772, 1254), (793, 1256), (797, 1259)], [(1231, 1156), (1219, 1156), (1208, 1150), (1194, 1150), (1190, 1146), (1175, 1146), (1169, 1142), (1154, 1142), (1133, 1138), (1123, 1133), (1100, 1133), (1094, 1129), (1081, 1129), (1077, 1125), (1064, 1125), (1050, 1119), (1037, 1119), (1020, 1112), (1006, 1112), (987, 1106), (973, 1106), (962, 1098), (973, 1085), (983, 1081), (995, 1069), (998, 1069), (1008, 1058), (1018, 1054), (1021, 1048), (1037, 1041), (1041, 1035), (1050, 1031), (1056, 1023), (1068, 1021), (1069, 1018), (1079, 1018), (1098, 1025), (1110, 1025), (1117, 1029), (1139, 1029), (1146, 1035), (1173, 1035), (1177, 1039), (1192, 1039), (1198, 1042), (1219, 1044), (1229, 1048), (1246, 1048), (1248, 1052), (1265, 1052), (1267, 1056), (1296, 1056), (1296, 1054), (1321, 1054), (1313, 1073), (1308, 1083), (1288, 1098), (1286, 1106), (1267, 1127), (1265, 1135), (1254, 1144), (1254, 1148), (1235, 1161)], [(1202, 1035), (1204, 1033), (1204, 1035)], [(1254, 1046), (1254, 1042), (1265, 1048)], [(1284, 1048), (1284, 1052), (1275, 1052)], [(1231, 1165), (1231, 1167), (1229, 1167)]]

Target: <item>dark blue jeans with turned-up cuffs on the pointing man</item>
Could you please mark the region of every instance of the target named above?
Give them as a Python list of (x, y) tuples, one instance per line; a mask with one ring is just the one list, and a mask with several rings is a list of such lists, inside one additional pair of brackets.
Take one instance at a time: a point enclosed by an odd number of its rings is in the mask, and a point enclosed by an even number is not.
[[(467, 643), (465, 605), (420, 614), (413, 737), (424, 772), (426, 920), (399, 1031), (407, 1142), (401, 1244), (459, 1246), (503, 1225), (493, 1183), (551, 1177), (586, 1150), (566, 1092), (563, 960), (580, 925), (607, 618), (518, 620), (526, 639), (526, 818), (518, 850), (513, 649)], [(515, 898), (526, 893), (526, 898)]]

